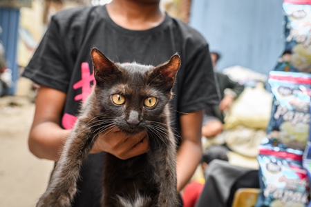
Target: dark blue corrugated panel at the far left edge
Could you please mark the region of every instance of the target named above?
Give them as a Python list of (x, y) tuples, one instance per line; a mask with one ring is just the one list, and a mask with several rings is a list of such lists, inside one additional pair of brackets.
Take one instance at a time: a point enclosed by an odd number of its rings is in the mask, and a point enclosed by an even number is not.
[(16, 90), (16, 83), (19, 77), (17, 66), (17, 37), (19, 28), (19, 9), (0, 7), (0, 26), (2, 34), (0, 40), (6, 50), (6, 60), (8, 68), (12, 69), (14, 84), (10, 88), (9, 94), (13, 95)]

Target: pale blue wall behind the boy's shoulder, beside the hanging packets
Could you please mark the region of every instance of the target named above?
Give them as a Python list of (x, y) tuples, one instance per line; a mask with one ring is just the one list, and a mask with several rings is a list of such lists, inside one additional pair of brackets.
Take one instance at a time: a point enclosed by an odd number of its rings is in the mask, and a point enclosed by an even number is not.
[(267, 75), (283, 50), (283, 0), (192, 0), (189, 24), (223, 56), (218, 70), (240, 65)]

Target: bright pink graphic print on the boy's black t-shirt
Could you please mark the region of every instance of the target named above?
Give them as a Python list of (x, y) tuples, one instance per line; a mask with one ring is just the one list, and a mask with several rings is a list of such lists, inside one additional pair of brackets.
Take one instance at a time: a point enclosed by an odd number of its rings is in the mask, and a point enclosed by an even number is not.
[[(81, 64), (81, 72), (82, 72), (81, 80), (73, 84), (73, 89), (77, 90), (78, 88), (81, 88), (82, 92), (81, 94), (75, 96), (75, 101), (82, 100), (83, 103), (88, 97), (88, 95), (91, 94), (92, 91), (91, 81), (93, 81), (95, 84), (95, 78), (93, 73), (90, 75), (91, 73), (90, 67), (86, 62)], [(64, 126), (65, 129), (71, 129), (73, 128), (73, 125), (75, 124), (76, 120), (77, 117), (75, 117), (74, 115), (65, 113), (62, 118), (62, 125)]]

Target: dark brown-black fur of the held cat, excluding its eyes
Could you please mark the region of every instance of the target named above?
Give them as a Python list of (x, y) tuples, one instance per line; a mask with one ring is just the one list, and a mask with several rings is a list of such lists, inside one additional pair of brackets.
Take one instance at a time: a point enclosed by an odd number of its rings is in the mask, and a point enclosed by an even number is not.
[[(82, 105), (37, 206), (70, 206), (82, 162), (98, 134), (115, 127), (130, 135), (147, 131), (149, 151), (126, 160), (106, 153), (102, 206), (177, 206), (176, 144), (168, 102), (180, 67), (179, 55), (156, 67), (113, 63), (96, 48), (91, 56), (95, 87)], [(113, 103), (114, 94), (122, 95), (125, 102)], [(158, 99), (153, 108), (144, 106), (149, 97)]]

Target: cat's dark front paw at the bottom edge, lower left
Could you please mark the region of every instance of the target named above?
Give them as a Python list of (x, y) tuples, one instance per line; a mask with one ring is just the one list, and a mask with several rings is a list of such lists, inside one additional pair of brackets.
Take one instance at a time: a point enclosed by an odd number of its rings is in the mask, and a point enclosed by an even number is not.
[(37, 202), (36, 207), (70, 207), (70, 199), (66, 195), (44, 195)]

